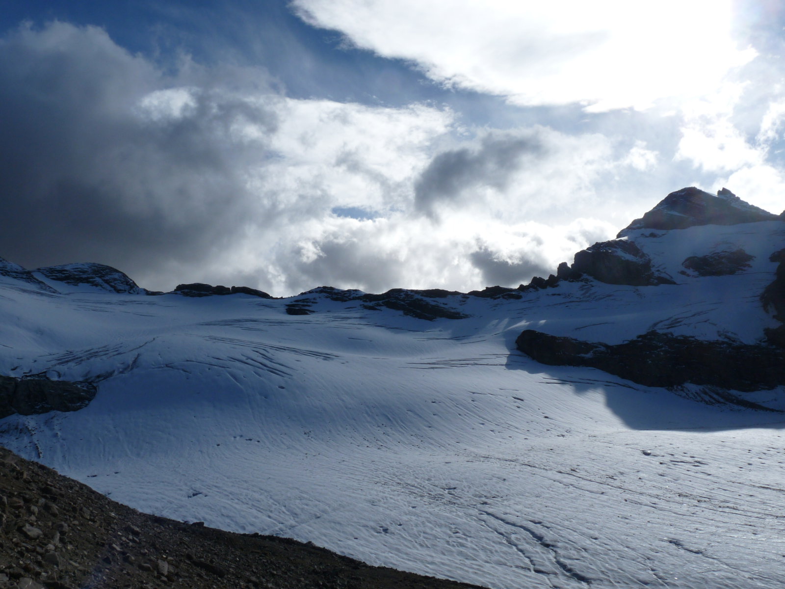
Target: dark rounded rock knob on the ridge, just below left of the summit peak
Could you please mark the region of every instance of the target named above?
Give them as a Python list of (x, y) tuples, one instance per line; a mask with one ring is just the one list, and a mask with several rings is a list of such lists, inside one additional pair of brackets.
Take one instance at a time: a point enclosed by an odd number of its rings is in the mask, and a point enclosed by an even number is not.
[(633, 287), (676, 284), (668, 276), (656, 275), (651, 258), (635, 243), (626, 240), (603, 241), (579, 251), (575, 254), (570, 273), (573, 276), (592, 276), (606, 284)]

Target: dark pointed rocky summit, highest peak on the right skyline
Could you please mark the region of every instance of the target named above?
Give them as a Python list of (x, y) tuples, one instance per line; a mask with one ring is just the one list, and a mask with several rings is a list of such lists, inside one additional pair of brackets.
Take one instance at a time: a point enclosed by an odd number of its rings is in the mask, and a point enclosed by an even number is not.
[(695, 186), (671, 192), (652, 210), (619, 232), (626, 236), (637, 229), (685, 229), (694, 225), (737, 225), (758, 221), (776, 221), (780, 217), (745, 203), (728, 188), (717, 196)]

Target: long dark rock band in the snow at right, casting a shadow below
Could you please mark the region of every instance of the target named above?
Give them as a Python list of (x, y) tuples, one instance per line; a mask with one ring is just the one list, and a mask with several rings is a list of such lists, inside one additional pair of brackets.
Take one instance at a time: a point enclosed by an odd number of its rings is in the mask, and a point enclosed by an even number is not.
[(517, 349), (550, 365), (599, 368), (644, 386), (696, 385), (751, 392), (785, 385), (785, 350), (649, 331), (615, 346), (525, 330)]

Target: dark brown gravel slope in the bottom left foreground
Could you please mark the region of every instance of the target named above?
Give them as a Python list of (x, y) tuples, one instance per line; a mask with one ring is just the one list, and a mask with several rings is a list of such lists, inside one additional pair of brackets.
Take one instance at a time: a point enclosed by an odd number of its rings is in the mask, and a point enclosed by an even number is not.
[(115, 503), (0, 448), (0, 589), (476, 587)]

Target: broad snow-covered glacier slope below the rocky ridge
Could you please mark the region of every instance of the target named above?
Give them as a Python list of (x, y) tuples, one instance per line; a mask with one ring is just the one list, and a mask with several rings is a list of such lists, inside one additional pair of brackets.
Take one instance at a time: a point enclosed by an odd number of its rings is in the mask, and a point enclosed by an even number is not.
[[(488, 587), (783, 587), (782, 413), (545, 366), (514, 342), (761, 342), (779, 325), (759, 297), (785, 222), (623, 239), (674, 284), (584, 276), (385, 305), (330, 289), (57, 294), (9, 273), (0, 375), (98, 393), (3, 419), (0, 443), (140, 510)], [(753, 257), (736, 273), (683, 265), (738, 249)], [(466, 318), (408, 316), (407, 297)], [(754, 399), (781, 409), (783, 393)]]

